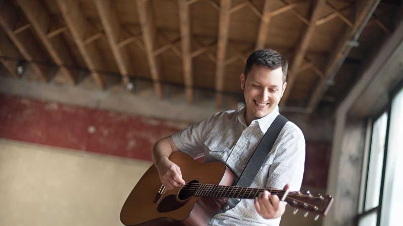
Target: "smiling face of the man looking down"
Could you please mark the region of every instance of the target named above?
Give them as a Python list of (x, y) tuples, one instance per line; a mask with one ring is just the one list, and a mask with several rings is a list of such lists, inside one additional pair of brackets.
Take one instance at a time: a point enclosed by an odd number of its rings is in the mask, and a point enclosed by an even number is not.
[(241, 74), (246, 114), (245, 121), (249, 125), (253, 120), (262, 118), (279, 104), (287, 82), (283, 84), (282, 68), (270, 69), (266, 66), (253, 65), (245, 81)]

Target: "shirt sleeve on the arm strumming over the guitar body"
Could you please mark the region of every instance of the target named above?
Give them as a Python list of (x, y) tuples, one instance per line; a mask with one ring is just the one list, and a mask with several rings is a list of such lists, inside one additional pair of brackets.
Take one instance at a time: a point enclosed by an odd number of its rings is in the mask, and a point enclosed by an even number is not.
[(203, 156), (206, 134), (211, 131), (216, 116), (217, 114), (173, 134), (171, 138), (179, 151), (188, 154), (192, 158)]

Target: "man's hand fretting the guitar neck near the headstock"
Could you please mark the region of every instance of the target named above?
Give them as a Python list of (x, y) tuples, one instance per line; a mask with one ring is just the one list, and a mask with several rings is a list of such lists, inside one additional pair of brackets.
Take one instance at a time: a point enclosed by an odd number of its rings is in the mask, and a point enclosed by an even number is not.
[[(284, 186), (288, 190), (289, 185)], [(254, 200), (255, 209), (265, 219), (274, 219), (283, 215), (287, 202), (280, 201), (279, 196), (268, 191), (260, 193)]]

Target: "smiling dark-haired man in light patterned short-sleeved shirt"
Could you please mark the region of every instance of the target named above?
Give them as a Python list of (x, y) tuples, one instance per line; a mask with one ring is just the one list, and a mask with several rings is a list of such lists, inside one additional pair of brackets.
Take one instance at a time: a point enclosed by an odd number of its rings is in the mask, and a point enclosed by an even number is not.
[[(206, 162), (221, 161), (240, 176), (264, 133), (279, 115), (278, 104), (287, 87), (287, 61), (271, 49), (253, 52), (241, 74), (246, 107), (223, 111), (158, 141), (153, 161), (169, 189), (185, 184), (180, 168), (168, 157), (182, 151)], [(305, 140), (301, 130), (287, 122), (250, 187), (301, 187)], [(234, 208), (215, 215), (209, 225), (279, 225), (286, 202), (265, 191), (255, 200), (242, 199)]]

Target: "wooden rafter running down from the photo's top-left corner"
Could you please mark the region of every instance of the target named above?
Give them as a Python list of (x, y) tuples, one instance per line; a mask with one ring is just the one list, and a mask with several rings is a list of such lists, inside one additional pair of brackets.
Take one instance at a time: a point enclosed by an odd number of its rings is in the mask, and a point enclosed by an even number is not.
[[(46, 62), (47, 57), (45, 53), (35, 43), (32, 35), (27, 32), (15, 32), (15, 24), (19, 20), (18, 11), (12, 2), (2, 2), (0, 11), (0, 24), (4, 31), (7, 33), (11, 41), (17, 47), (18, 51), (28, 62), (32, 63), (32, 68), (40, 76), (40, 78), (47, 82), (49, 80), (50, 68), (37, 64), (35, 62)], [(18, 29), (17, 29), (18, 30)]]

